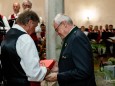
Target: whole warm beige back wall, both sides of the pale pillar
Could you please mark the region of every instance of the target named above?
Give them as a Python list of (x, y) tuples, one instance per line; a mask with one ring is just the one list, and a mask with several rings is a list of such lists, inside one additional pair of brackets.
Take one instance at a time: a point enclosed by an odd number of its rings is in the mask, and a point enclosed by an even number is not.
[[(8, 17), (13, 12), (13, 2), (20, 2), (23, 0), (0, 0), (0, 13)], [(31, 0), (33, 3), (32, 9), (45, 19), (45, 0)], [(52, 3), (53, 4), (53, 3)], [(74, 23), (79, 27), (81, 25), (105, 25), (113, 24), (115, 27), (115, 0), (65, 0), (65, 14), (69, 15)], [(84, 9), (93, 9), (96, 11), (95, 19), (83, 19), (81, 12)], [(22, 9), (21, 9), (22, 11)], [(85, 15), (85, 14), (84, 14)]]

